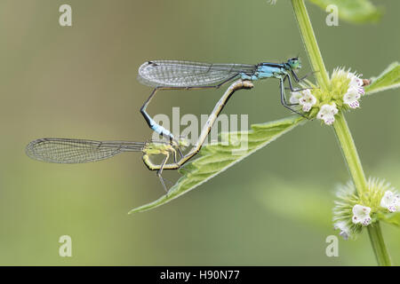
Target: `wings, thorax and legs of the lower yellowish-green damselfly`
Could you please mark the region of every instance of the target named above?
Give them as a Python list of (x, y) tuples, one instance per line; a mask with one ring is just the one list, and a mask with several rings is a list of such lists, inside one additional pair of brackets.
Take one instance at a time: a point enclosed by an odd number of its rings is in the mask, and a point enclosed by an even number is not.
[[(180, 140), (179, 146), (187, 146), (185, 140)], [(39, 138), (30, 142), (26, 153), (32, 159), (55, 163), (97, 162), (124, 152), (141, 152), (142, 160), (148, 170), (156, 170), (164, 190), (162, 173), (164, 165), (172, 156), (177, 162), (177, 152), (174, 146), (164, 141), (130, 142), (130, 141), (94, 141), (74, 138)], [(155, 164), (150, 156), (164, 155), (161, 164)]]

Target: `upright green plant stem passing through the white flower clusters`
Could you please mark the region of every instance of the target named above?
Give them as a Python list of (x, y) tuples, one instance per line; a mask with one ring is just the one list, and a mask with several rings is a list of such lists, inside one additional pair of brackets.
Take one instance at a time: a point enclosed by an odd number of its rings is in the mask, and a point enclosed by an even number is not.
[[(326, 72), (324, 60), (322, 59), (321, 51), (319, 51), (318, 48), (318, 43), (316, 43), (316, 36), (314, 35), (314, 30), (311, 26), (304, 0), (292, 0), (292, 6), (311, 66), (314, 71), (319, 71), (316, 73), (316, 81), (321, 88), (328, 89), (328, 73)], [(336, 115), (333, 129), (336, 132), (336, 137), (338, 138), (344, 158), (348, 164), (350, 175), (356, 185), (357, 193), (358, 195), (362, 195), (364, 191), (368, 189), (368, 185), (364, 175), (363, 166), (358, 157), (356, 145), (354, 144), (354, 140), (351, 136), (350, 130), (348, 129), (348, 123), (341, 111)], [(378, 264), (391, 265), (388, 249), (383, 241), (378, 221), (373, 225), (368, 226), (368, 234)]]

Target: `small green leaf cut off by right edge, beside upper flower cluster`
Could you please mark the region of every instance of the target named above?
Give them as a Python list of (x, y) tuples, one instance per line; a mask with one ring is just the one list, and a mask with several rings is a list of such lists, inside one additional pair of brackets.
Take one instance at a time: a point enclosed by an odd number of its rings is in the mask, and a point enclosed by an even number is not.
[(372, 77), (371, 81), (372, 83), (364, 88), (367, 95), (400, 87), (400, 65), (393, 62), (378, 77)]

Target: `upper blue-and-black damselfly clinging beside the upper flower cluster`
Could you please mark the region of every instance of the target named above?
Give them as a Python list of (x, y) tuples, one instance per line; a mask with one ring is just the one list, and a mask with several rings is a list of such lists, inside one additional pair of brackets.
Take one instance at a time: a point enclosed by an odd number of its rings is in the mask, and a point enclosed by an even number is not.
[[(148, 126), (152, 130), (174, 141), (175, 139), (171, 131), (166, 130), (163, 126), (156, 123), (146, 111), (150, 100), (156, 95), (156, 91), (212, 89), (220, 88), (223, 84), (232, 82), (236, 79), (241, 79), (243, 81), (257, 81), (266, 78), (276, 78), (279, 79), (282, 105), (293, 112), (300, 114), (297, 110), (291, 107), (298, 104), (287, 103), (284, 93), (284, 82), (286, 79), (289, 82), (289, 89), (291, 91), (304, 90), (295, 90), (292, 86), (292, 78), (296, 83), (299, 83), (307, 76), (299, 78), (296, 74), (296, 70), (300, 68), (301, 62), (298, 58), (288, 59), (284, 63), (264, 62), (257, 65), (210, 64), (174, 60), (148, 61), (140, 66), (138, 79), (140, 83), (155, 87), (155, 89), (151, 92), (144, 105), (141, 106), (140, 112), (143, 114), (146, 122), (148, 122)], [(226, 104), (228, 99), (229, 97), (226, 98), (222, 104)], [(221, 103), (221, 101), (219, 103)], [(216, 113), (212, 113), (211, 115), (215, 114)]]

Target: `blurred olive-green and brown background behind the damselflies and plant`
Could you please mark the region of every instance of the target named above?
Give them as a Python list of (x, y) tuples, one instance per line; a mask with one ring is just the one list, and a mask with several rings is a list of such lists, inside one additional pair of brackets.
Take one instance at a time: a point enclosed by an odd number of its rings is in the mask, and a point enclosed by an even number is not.
[[(73, 26), (59, 25), (70, 4)], [(379, 75), (399, 59), (398, 1), (380, 2), (376, 25), (325, 25), (308, 11), (329, 70)], [(148, 59), (258, 63), (295, 56), (309, 70), (289, 1), (2, 0), (0, 2), (0, 264), (2, 265), (364, 265), (375, 264), (366, 232), (325, 256), (334, 186), (348, 171), (329, 127), (309, 122), (178, 200), (128, 216), (164, 191), (140, 154), (97, 163), (30, 160), (42, 137), (142, 141), (139, 109), (150, 88), (136, 80)], [(150, 114), (209, 114), (220, 91), (164, 92)], [(288, 115), (275, 80), (236, 93), (227, 114), (250, 123)], [(385, 91), (349, 113), (367, 175), (400, 186), (400, 96)], [(173, 174), (166, 177), (174, 177)], [(400, 232), (383, 225), (400, 264)], [(61, 235), (73, 256), (60, 257)]]

